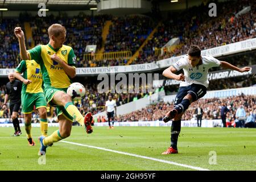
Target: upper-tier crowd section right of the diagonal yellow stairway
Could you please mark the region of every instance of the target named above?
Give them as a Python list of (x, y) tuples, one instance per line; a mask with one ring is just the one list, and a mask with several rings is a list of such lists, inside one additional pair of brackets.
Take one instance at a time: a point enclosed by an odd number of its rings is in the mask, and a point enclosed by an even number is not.
[[(143, 55), (134, 60), (134, 64), (184, 55), (191, 44), (197, 44), (203, 50), (256, 37), (255, 1), (220, 2), (217, 6), (222, 9), (218, 9), (216, 18), (208, 15), (208, 6), (204, 4), (185, 10), (180, 15), (168, 15), (170, 19), (160, 24), (154, 37), (143, 48)], [(236, 16), (247, 6), (251, 7), (249, 12)], [(163, 55), (155, 55), (155, 48), (162, 48), (176, 37), (180, 38), (180, 44), (183, 45), (181, 48), (172, 52), (164, 51)]]

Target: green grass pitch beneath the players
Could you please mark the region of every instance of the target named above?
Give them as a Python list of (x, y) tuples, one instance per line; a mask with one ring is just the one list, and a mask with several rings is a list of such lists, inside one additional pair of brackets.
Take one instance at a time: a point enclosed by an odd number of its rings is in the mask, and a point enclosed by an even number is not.
[[(56, 129), (49, 127), (48, 133)], [(38, 138), (34, 137), (36, 146), (29, 146), (23, 127), (20, 137), (10, 137), (13, 131), (13, 127), (0, 127), (0, 170), (195, 170), (63, 142), (48, 147), (46, 164), (39, 164)], [(40, 135), (39, 127), (32, 127), (32, 135)], [(182, 127), (179, 154), (172, 155), (161, 155), (170, 146), (170, 127), (94, 127), (88, 135), (76, 126), (64, 140), (209, 170), (256, 170), (256, 129)]]

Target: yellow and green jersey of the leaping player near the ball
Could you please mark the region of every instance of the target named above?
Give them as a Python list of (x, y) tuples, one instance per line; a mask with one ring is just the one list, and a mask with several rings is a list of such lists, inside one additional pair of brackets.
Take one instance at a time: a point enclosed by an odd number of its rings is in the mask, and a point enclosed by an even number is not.
[(68, 88), (71, 80), (65, 73), (63, 67), (56, 61), (51, 60), (51, 55), (56, 53), (65, 63), (76, 68), (76, 56), (70, 46), (63, 45), (54, 49), (51, 45), (40, 45), (28, 50), (30, 59), (36, 60), (42, 69), (44, 87)]

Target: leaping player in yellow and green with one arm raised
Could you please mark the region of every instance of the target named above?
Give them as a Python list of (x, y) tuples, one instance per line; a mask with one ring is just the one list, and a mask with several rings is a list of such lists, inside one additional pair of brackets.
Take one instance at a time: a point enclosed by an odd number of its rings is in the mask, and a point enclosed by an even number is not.
[(84, 126), (86, 133), (92, 133), (91, 113), (85, 117), (73, 105), (72, 98), (67, 92), (71, 84), (70, 78), (76, 76), (76, 56), (72, 47), (65, 46), (66, 30), (61, 24), (52, 24), (48, 28), (49, 43), (36, 46), (27, 51), (24, 43), (24, 33), (20, 27), (15, 27), (15, 36), (19, 40), (20, 56), (24, 60), (36, 60), (43, 73), (44, 96), (47, 104), (55, 106), (59, 120), (59, 130), (49, 137), (39, 137), (40, 155), (46, 154), (48, 144), (69, 137), (73, 118)]

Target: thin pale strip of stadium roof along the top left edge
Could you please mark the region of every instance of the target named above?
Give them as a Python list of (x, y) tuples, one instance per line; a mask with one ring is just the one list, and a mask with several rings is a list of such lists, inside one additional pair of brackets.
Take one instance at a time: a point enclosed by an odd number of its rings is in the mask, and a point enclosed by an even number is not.
[(96, 0), (0, 0), (0, 4), (97, 5)]

